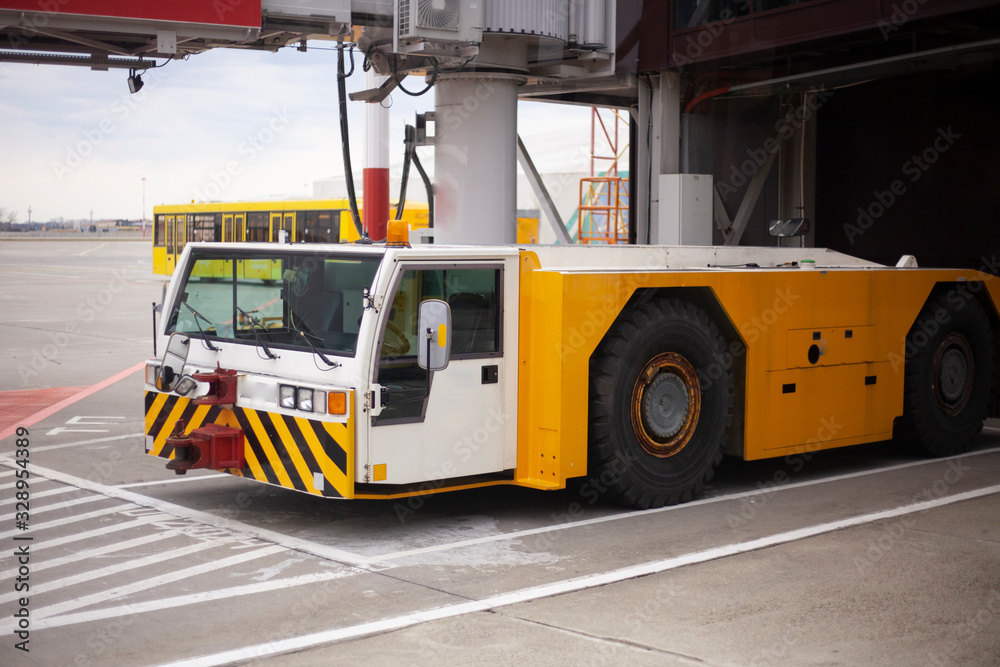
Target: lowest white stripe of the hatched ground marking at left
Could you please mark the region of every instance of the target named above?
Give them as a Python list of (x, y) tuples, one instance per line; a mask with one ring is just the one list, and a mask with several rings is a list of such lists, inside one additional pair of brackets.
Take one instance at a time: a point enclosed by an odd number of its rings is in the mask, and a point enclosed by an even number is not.
[(262, 581), (245, 586), (233, 586), (215, 591), (204, 591), (201, 593), (191, 593), (189, 595), (178, 595), (172, 598), (161, 600), (149, 600), (147, 602), (137, 602), (135, 604), (121, 605), (119, 607), (105, 607), (93, 611), (82, 611), (75, 614), (65, 614), (32, 621), (32, 627), (58, 628), (64, 625), (75, 625), (77, 623), (90, 623), (92, 621), (102, 621), (109, 618), (121, 618), (132, 614), (143, 614), (151, 611), (161, 611), (163, 609), (174, 609), (176, 607), (186, 607), (192, 604), (212, 602), (214, 600), (228, 600), (230, 598), (241, 597), (243, 595), (256, 595), (270, 591), (283, 591), (296, 586), (308, 584), (318, 584), (324, 581), (343, 579), (358, 574), (359, 570), (339, 570), (331, 572), (315, 572), (313, 574), (303, 574), (298, 577), (287, 579), (275, 579), (274, 581)]

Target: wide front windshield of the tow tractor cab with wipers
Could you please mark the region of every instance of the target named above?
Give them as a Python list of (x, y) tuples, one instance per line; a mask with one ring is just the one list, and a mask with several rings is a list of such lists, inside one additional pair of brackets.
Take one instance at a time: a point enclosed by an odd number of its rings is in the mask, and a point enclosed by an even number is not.
[(364, 290), (371, 289), (379, 262), (326, 253), (194, 250), (167, 333), (304, 350), (312, 343), (354, 356)]

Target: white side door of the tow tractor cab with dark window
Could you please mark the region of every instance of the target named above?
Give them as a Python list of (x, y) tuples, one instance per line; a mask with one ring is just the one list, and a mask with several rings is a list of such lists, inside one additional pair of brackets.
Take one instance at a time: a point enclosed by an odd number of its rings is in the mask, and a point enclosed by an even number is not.
[[(366, 481), (414, 484), (515, 467), (517, 295), (516, 284), (505, 286), (515, 270), (502, 260), (398, 266), (380, 312)], [(513, 299), (506, 308), (505, 298)], [(425, 299), (451, 309), (443, 371), (417, 365)]]

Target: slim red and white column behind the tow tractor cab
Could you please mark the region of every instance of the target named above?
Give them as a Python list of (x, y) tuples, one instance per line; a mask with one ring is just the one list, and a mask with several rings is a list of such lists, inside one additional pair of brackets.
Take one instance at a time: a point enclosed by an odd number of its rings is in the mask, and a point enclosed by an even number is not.
[[(365, 72), (365, 88), (378, 88), (387, 77), (374, 68)], [(373, 241), (384, 241), (389, 223), (389, 110), (379, 102), (365, 104), (363, 222)]]

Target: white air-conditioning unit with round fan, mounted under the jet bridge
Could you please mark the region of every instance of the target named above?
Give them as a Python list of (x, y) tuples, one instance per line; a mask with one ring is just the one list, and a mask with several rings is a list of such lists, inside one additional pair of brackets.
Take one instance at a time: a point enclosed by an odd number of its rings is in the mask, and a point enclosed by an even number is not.
[(394, 49), (402, 53), (448, 51), (483, 39), (485, 0), (396, 0)]

